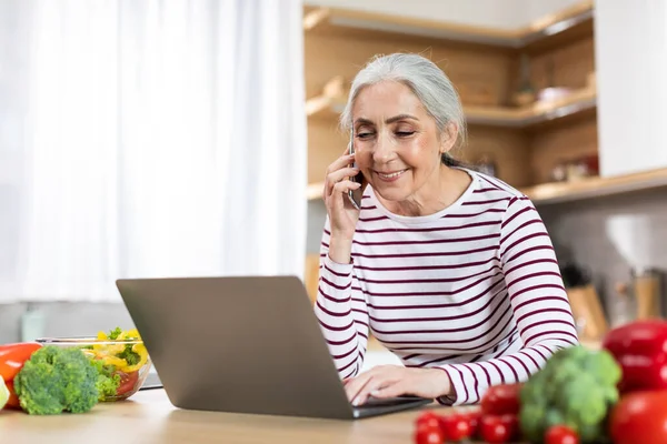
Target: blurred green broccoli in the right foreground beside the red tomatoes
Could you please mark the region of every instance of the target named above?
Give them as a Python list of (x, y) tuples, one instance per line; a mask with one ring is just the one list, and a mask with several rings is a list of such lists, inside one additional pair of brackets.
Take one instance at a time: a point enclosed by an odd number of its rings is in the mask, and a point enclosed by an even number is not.
[(581, 443), (604, 440), (620, 376), (620, 366), (605, 350), (577, 345), (557, 351), (521, 389), (524, 436), (541, 443), (550, 426), (564, 424), (577, 432)]

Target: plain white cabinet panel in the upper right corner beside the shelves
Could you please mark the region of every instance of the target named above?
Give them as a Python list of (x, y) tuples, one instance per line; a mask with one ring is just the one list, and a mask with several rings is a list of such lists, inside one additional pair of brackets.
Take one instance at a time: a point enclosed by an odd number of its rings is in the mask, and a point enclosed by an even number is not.
[(597, 1), (600, 173), (667, 167), (667, 2)]

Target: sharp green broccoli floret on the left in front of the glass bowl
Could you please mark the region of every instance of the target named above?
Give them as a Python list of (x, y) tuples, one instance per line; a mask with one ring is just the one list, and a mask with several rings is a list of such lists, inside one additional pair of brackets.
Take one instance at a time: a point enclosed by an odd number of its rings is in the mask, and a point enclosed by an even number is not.
[(21, 408), (31, 415), (83, 413), (98, 402), (98, 371), (79, 349), (47, 345), (14, 379)]

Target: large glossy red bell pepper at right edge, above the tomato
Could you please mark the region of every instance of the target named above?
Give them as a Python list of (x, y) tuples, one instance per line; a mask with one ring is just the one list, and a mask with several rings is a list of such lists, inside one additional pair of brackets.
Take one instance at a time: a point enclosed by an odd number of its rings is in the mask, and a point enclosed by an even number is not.
[(610, 330), (603, 349), (623, 370), (621, 393), (667, 389), (667, 322), (647, 320)]

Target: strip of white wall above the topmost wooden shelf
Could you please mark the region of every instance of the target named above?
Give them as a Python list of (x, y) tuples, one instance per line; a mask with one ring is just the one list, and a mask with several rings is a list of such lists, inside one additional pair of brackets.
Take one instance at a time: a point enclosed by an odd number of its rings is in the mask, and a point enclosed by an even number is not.
[(516, 29), (579, 0), (305, 0), (306, 4), (359, 9), (456, 23)]

